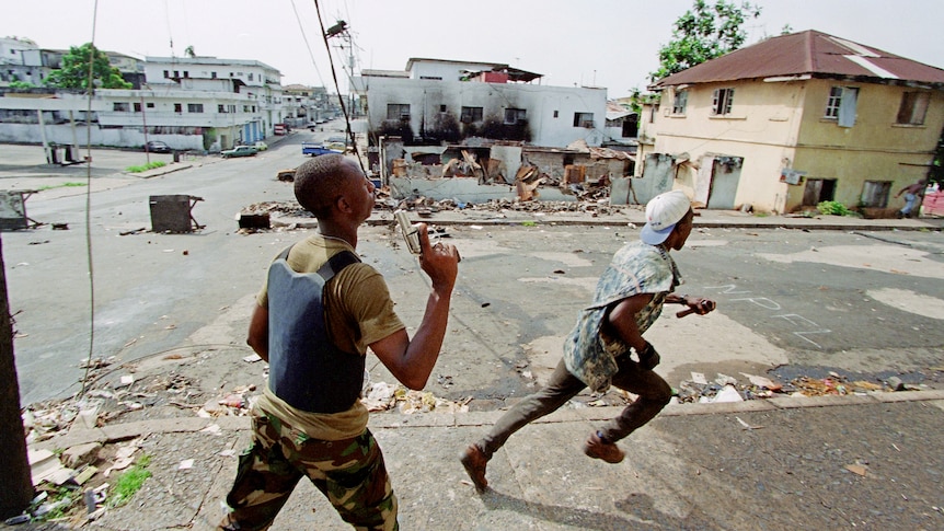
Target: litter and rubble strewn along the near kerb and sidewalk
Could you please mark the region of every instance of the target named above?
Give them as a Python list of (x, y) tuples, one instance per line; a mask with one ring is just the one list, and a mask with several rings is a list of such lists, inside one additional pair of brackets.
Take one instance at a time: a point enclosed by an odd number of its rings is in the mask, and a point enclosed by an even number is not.
[[(448, 235), (448, 234), (447, 234)], [(151, 360), (138, 359), (134, 363), (120, 362), (116, 358), (89, 358), (80, 361), (88, 370), (81, 396), (61, 401), (35, 403), (23, 411), (23, 425), (30, 447), (28, 458), (36, 490), (42, 493), (31, 506), (28, 520), (53, 519), (59, 523), (88, 524), (111, 509), (115, 499), (111, 485), (123, 474), (140, 469), (141, 460), (148, 457), (142, 451), (151, 434), (139, 434), (134, 440), (95, 440), (67, 445), (50, 451), (48, 439), (76, 430), (102, 428), (110, 425), (137, 422), (143, 418), (168, 418), (196, 416), (202, 418), (249, 415), (261, 394), (262, 385), (244, 382), (215, 381), (209, 386), (200, 385), (193, 376), (193, 368), (206, 361), (203, 355), (185, 356), (180, 353), (163, 354)], [(240, 351), (234, 359), (242, 367), (254, 367), (261, 359), (256, 355), (245, 356)], [(193, 363), (188, 369), (181, 366)], [(154, 365), (166, 368), (148, 370)], [(246, 363), (246, 365), (242, 365)], [(527, 361), (519, 361), (515, 369), (529, 381), (537, 378)], [(266, 371), (256, 370), (254, 378), (264, 381)], [(242, 376), (243, 370), (239, 372)], [(824, 374), (827, 374), (824, 372)], [(449, 389), (452, 376), (438, 374), (437, 383)], [(773, 396), (822, 396), (864, 394), (874, 391), (920, 389), (906, 384), (902, 378), (885, 376), (866, 381), (862, 376), (845, 378), (829, 372), (825, 378), (799, 376), (787, 382), (774, 377), (749, 374), (729, 376), (716, 373), (707, 377), (692, 372), (691, 379), (679, 384), (677, 400), (680, 403), (728, 402), (758, 400)], [(472, 396), (449, 400), (429, 391), (412, 391), (399, 383), (371, 382), (365, 378), (362, 402), (371, 412), (396, 412), (418, 415), (424, 413), (464, 413), (470, 409)], [(569, 401), (569, 407), (624, 406), (636, 396), (611, 388), (606, 393), (580, 394)], [(763, 428), (735, 417), (746, 430)], [(102, 430), (105, 432), (105, 430)], [(118, 431), (120, 432), (120, 430)], [(200, 430), (206, 437), (219, 437), (220, 425), (211, 424)], [(38, 442), (47, 441), (50, 450), (37, 449)], [(234, 450), (229, 451), (234, 454)], [(222, 454), (222, 453), (221, 453)], [(196, 466), (192, 458), (179, 460), (177, 470)], [(856, 462), (847, 466), (849, 472), (865, 475), (867, 463)], [(140, 472), (140, 471), (139, 471)], [(110, 498), (106, 501), (106, 498)], [(28, 521), (27, 520), (27, 521)]]

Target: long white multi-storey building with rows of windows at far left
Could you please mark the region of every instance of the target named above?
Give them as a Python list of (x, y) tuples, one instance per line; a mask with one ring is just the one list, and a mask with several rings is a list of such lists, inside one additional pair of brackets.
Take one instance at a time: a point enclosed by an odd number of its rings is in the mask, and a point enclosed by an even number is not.
[[(148, 57), (140, 90), (99, 89), (56, 97), (0, 97), (0, 141), (74, 143), (72, 124), (93, 125), (93, 145), (219, 151), (273, 134), (288, 115), (281, 74), (260, 61)], [(92, 113), (87, 109), (91, 107)], [(41, 123), (42, 127), (36, 127)]]

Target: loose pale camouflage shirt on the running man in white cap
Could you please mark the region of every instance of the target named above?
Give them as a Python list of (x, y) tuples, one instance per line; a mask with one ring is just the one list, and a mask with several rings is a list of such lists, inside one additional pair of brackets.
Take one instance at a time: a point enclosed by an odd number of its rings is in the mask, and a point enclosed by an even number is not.
[(618, 337), (606, 334), (602, 325), (608, 309), (634, 295), (655, 295), (636, 314), (636, 325), (642, 334), (658, 319), (666, 296), (682, 281), (675, 261), (660, 246), (637, 242), (617, 251), (597, 281), (594, 302), (580, 311), (577, 325), (564, 340), (567, 370), (596, 392), (609, 389), (617, 373), (614, 357), (628, 353), (630, 347)]

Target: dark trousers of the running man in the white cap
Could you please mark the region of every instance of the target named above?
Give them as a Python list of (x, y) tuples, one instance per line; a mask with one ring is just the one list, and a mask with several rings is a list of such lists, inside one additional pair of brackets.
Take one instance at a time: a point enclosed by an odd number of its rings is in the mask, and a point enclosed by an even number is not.
[[(599, 430), (607, 442), (623, 439), (652, 420), (672, 396), (672, 389), (660, 376), (640, 367), (629, 354), (617, 357), (617, 367), (619, 370), (613, 376), (613, 385), (637, 394), (638, 399)], [(479, 448), (491, 459), (511, 434), (532, 420), (553, 413), (586, 386), (577, 377), (571, 374), (561, 359), (548, 384), (502, 415), (488, 435), (477, 442)]]

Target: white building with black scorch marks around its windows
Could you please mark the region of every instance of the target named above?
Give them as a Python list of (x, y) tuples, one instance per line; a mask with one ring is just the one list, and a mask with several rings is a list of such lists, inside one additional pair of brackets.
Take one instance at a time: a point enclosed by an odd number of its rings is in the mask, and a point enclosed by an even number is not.
[(407, 143), (481, 137), (600, 146), (607, 138), (606, 89), (532, 83), (540, 79), (502, 64), (412, 58), (404, 71), (364, 70), (353, 85), (367, 99), (369, 131)]

